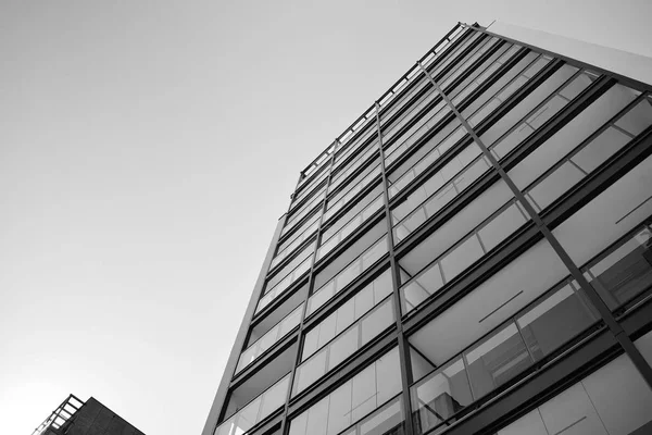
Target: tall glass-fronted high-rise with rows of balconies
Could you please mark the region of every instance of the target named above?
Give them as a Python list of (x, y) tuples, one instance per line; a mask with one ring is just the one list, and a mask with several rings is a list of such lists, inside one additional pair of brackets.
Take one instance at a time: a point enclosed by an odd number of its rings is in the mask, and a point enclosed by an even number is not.
[(301, 172), (203, 435), (652, 433), (648, 83), (454, 26)]

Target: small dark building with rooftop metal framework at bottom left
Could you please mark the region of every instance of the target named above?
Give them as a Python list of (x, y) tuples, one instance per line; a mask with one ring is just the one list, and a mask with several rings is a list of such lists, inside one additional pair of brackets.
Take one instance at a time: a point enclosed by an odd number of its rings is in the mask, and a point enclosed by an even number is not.
[(86, 402), (70, 395), (32, 435), (143, 435), (91, 397)]

